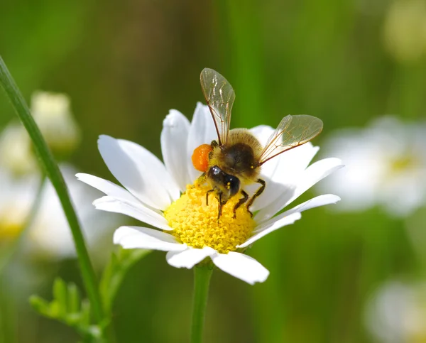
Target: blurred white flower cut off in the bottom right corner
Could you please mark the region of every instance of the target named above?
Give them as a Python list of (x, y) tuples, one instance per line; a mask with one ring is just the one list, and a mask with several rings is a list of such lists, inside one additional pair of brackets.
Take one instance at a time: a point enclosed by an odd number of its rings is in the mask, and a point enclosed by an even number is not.
[(386, 283), (366, 307), (366, 326), (378, 342), (426, 342), (425, 322), (426, 283)]

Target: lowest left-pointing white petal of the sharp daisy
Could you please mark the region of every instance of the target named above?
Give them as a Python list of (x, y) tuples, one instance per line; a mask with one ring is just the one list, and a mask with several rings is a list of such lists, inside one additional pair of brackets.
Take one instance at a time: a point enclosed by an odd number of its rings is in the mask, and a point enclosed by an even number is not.
[(124, 249), (152, 249), (161, 251), (182, 251), (186, 244), (179, 243), (175, 236), (148, 227), (119, 227), (114, 232), (114, 244)]

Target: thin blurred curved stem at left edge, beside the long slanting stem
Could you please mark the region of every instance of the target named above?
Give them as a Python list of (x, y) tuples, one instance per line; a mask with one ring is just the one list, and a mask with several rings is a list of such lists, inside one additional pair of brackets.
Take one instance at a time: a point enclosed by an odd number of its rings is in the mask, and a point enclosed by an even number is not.
[(31, 207), (30, 212), (28, 213), (28, 216), (26, 217), (25, 223), (23, 224), (23, 229), (21, 232), (19, 232), (18, 236), (11, 242), (10, 246), (7, 247), (4, 251), (1, 251), (0, 254), (0, 279), (4, 272), (4, 269), (6, 268), (7, 264), (11, 260), (13, 254), (18, 250), (19, 244), (21, 244), (21, 240), (23, 239), (23, 236), (25, 236), (26, 232), (30, 229), (31, 225), (33, 224), (33, 221), (35, 219), (35, 214), (38, 213), (38, 209), (40, 208), (41, 199), (43, 195), (43, 190), (45, 186), (45, 175), (43, 175), (40, 178), (40, 183), (38, 185), (38, 190), (35, 193), (35, 198), (33, 205)]

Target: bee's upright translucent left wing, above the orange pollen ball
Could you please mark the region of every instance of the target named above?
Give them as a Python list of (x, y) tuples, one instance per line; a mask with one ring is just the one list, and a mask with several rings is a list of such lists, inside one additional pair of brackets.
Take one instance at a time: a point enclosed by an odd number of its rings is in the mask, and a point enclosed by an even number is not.
[(200, 75), (201, 89), (209, 105), (219, 145), (226, 143), (231, 123), (231, 109), (235, 92), (231, 84), (219, 72), (204, 68)]

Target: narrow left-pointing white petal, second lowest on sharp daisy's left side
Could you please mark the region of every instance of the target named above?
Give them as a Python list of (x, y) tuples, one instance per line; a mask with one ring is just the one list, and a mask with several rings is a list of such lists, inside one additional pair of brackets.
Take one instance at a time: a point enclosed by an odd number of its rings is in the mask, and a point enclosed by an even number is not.
[(102, 209), (102, 211), (126, 214), (153, 227), (158, 227), (158, 229), (171, 230), (162, 214), (136, 202), (128, 202), (107, 196), (94, 200), (93, 205), (97, 209)]

